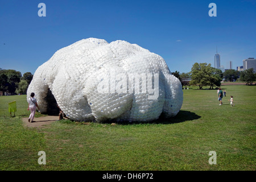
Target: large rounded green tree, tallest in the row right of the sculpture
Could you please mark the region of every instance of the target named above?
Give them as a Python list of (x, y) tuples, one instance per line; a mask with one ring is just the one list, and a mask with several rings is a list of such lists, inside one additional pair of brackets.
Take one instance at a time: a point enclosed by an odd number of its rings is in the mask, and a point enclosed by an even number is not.
[(212, 73), (212, 67), (207, 63), (195, 63), (191, 68), (191, 85), (199, 86), (202, 89), (203, 86), (210, 85), (210, 77)]

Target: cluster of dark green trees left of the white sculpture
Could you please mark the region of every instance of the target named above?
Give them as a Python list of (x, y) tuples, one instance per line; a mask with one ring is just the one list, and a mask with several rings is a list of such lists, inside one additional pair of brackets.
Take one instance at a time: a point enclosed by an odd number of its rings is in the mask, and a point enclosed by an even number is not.
[(26, 94), (33, 75), (30, 72), (23, 74), (14, 69), (0, 68), (0, 91), (11, 94)]

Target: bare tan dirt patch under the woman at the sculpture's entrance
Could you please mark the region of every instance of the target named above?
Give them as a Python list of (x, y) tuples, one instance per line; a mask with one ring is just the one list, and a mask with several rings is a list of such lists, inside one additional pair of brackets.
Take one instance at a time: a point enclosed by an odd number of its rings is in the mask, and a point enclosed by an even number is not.
[(34, 118), (35, 122), (28, 122), (28, 118), (22, 118), (24, 125), (27, 127), (42, 127), (43, 125), (49, 125), (52, 122), (59, 120), (59, 116), (48, 115), (46, 117)]

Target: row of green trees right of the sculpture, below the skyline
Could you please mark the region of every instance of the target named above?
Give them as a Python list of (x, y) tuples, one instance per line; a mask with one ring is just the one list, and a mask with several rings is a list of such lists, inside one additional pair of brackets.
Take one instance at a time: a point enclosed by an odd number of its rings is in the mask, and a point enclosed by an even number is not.
[(252, 85), (253, 81), (256, 81), (256, 73), (254, 73), (253, 68), (241, 72), (235, 69), (222, 72), (207, 63), (195, 63), (190, 72), (180, 74), (175, 71), (172, 72), (172, 75), (179, 78), (182, 86), (196, 85), (199, 86), (199, 89), (203, 89), (203, 86), (210, 86), (210, 89), (213, 89), (214, 86), (220, 86), (222, 80), (236, 81), (239, 78), (240, 81), (246, 82), (246, 85)]

